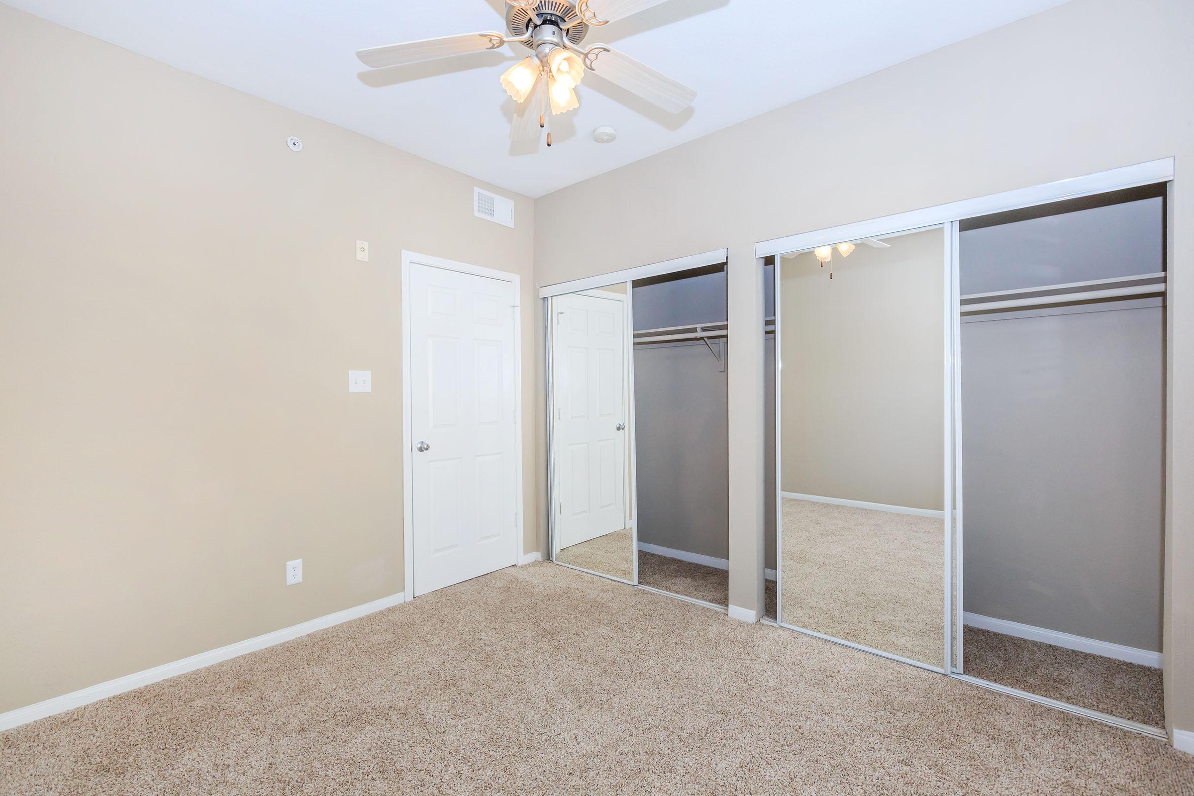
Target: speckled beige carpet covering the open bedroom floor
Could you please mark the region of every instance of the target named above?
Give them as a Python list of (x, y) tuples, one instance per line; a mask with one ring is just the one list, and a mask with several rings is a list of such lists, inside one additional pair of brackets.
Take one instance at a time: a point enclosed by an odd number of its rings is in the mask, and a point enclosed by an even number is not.
[(0, 792), (1189, 794), (1164, 742), (534, 563), (0, 734)]

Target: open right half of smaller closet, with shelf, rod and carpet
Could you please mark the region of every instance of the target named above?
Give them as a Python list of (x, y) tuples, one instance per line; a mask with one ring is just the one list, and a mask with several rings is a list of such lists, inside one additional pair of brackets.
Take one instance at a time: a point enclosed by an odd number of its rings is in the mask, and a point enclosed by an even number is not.
[(726, 606), (725, 265), (633, 284), (639, 584)]

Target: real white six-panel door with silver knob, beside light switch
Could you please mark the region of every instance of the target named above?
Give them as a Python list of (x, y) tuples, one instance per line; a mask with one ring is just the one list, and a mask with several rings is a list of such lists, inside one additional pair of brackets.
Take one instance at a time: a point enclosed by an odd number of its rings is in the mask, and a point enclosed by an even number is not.
[(418, 596), (517, 563), (516, 295), (510, 282), (408, 269)]

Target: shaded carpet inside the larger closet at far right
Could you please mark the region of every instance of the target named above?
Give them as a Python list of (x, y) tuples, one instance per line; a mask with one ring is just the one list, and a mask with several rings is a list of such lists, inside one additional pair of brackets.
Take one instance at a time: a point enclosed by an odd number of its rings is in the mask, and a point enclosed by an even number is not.
[(962, 672), (1072, 705), (1165, 726), (1162, 671), (966, 625)]

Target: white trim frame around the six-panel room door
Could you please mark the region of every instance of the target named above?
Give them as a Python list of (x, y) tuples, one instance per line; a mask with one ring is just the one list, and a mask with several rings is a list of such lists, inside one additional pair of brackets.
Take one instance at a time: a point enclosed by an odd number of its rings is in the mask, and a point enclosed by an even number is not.
[(517, 273), (485, 269), (479, 265), (456, 263), (439, 257), (418, 254), (402, 249), (402, 593), (406, 599), (414, 599), (414, 494), (412, 445), (414, 433), (411, 430), (411, 266), (426, 265), (445, 271), (458, 271), (475, 277), (487, 277), (509, 282), (515, 289), (515, 507), (517, 522), (515, 526), (515, 563), (522, 562), (523, 551), (523, 436), (522, 436), (522, 290)]

